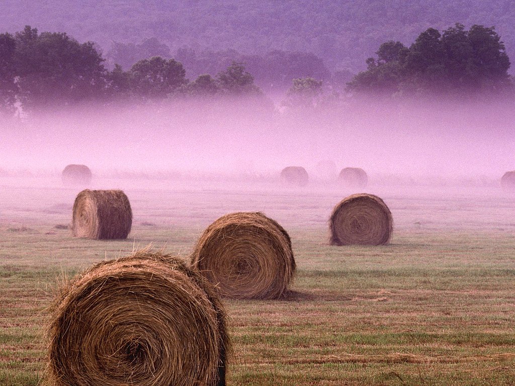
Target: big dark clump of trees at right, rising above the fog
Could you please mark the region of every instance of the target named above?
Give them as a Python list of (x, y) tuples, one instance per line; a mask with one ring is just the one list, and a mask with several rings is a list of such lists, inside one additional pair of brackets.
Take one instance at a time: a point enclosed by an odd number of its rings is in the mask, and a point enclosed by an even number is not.
[(440, 33), (422, 32), (409, 47), (386, 42), (367, 59), (367, 71), (357, 74), (348, 89), (392, 95), (438, 93), (466, 95), (499, 92), (510, 85), (510, 62), (494, 27), (456, 23)]

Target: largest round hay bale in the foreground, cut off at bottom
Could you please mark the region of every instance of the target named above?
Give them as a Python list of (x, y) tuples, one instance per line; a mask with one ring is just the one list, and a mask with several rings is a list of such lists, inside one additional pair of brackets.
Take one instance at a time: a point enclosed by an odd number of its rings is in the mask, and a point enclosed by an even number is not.
[(61, 288), (48, 326), (52, 386), (224, 386), (226, 313), (177, 257), (138, 251)]

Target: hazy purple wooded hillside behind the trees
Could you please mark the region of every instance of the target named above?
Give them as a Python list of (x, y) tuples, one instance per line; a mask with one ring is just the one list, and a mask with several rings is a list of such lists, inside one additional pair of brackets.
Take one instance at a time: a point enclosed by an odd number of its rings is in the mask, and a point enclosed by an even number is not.
[[(170, 48), (272, 49), (311, 52), (332, 71), (365, 68), (387, 40), (409, 45), (428, 27), (455, 22), (495, 26), (515, 58), (512, 0), (3, 0), (0, 31), (31, 25), (92, 40), (104, 52), (113, 42), (155, 37)], [(512, 59), (515, 61), (515, 59)]]

